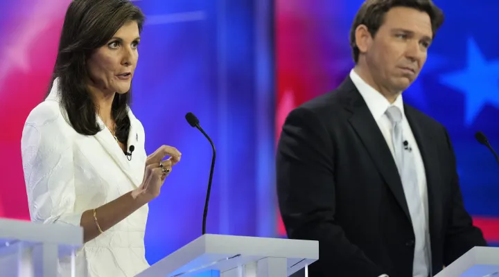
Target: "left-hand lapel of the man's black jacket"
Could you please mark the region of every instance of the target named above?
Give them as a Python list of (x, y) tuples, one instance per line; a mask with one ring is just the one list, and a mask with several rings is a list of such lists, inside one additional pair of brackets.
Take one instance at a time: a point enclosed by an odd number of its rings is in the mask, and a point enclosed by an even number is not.
[(392, 190), (396, 201), (410, 220), (409, 208), (405, 201), (402, 181), (392, 157), (392, 152), (390, 152), (385, 138), (364, 99), (350, 78), (347, 78), (347, 80), (343, 82), (338, 89), (338, 93), (342, 93), (341, 97), (345, 100), (344, 107), (352, 113), (349, 118), (349, 123), (357, 132), (360, 140), (365, 145), (369, 156), (374, 161), (376, 168), (378, 168), (383, 179), (385, 179), (390, 190)]

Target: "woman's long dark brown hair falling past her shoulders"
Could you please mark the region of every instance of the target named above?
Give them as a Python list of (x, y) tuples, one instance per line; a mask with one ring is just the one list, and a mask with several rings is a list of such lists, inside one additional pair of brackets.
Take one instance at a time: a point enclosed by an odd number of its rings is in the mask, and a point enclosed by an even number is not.
[[(100, 132), (96, 118), (96, 103), (89, 93), (87, 59), (97, 48), (104, 46), (129, 21), (137, 21), (142, 31), (145, 17), (128, 0), (73, 0), (64, 18), (59, 51), (53, 70), (53, 80), (59, 78), (61, 108), (76, 132), (94, 135)], [(130, 132), (128, 93), (114, 96), (112, 117), (116, 123), (116, 137), (127, 141)], [(48, 95), (48, 94), (47, 94)]]

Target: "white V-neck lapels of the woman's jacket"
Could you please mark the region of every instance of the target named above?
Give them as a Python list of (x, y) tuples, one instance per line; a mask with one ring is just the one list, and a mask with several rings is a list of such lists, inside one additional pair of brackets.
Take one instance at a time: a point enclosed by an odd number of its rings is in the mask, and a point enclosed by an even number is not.
[[(139, 187), (142, 180), (137, 179), (137, 172), (134, 172), (133, 168), (137, 168), (134, 166), (134, 159), (128, 161), (129, 158), (125, 156), (123, 150), (119, 147), (118, 143), (114, 140), (114, 136), (111, 134), (110, 130), (105, 127), (105, 124), (102, 120), (97, 116), (97, 122), (100, 125), (102, 131), (98, 132), (95, 135), (96, 140), (103, 146), (107, 154), (112, 157), (115, 163), (118, 164), (119, 168), (127, 175), (127, 177), (132, 181), (132, 183)], [(132, 141), (135, 141), (136, 132), (134, 131), (133, 124), (130, 127), (130, 134), (128, 135), (128, 145)], [(128, 148), (128, 146), (127, 146)], [(133, 154), (132, 154), (133, 157)], [(136, 159), (137, 160), (137, 159)], [(143, 168), (141, 168), (143, 170)]]

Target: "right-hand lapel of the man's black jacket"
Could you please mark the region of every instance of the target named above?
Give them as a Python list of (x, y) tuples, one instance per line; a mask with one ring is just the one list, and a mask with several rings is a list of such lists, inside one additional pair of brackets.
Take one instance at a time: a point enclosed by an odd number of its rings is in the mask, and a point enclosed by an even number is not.
[[(439, 160), (437, 156), (437, 146), (434, 143), (434, 138), (431, 132), (421, 123), (421, 120), (417, 120), (417, 114), (414, 112), (412, 107), (404, 105), (405, 117), (408, 118), (409, 125), (414, 134), (414, 138), (418, 144), (419, 152), (421, 152), (421, 158), (423, 159), (423, 164), (426, 173), (426, 186), (428, 188), (428, 222), (430, 223), (430, 238), (437, 238), (435, 233), (437, 230), (441, 230), (441, 221), (443, 217), (441, 211), (441, 205), (439, 205), (440, 190), (438, 190), (440, 184), (439, 172)], [(434, 245), (434, 240), (432, 240), (432, 247)]]

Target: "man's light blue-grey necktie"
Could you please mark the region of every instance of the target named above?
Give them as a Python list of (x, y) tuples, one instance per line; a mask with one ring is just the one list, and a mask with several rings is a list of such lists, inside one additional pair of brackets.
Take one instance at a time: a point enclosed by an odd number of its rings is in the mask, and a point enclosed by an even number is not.
[(386, 115), (392, 122), (392, 143), (394, 149), (395, 163), (399, 170), (405, 200), (407, 201), (412, 227), (416, 241), (414, 242), (414, 263), (412, 276), (427, 277), (430, 274), (429, 265), (429, 244), (427, 243), (427, 231), (425, 214), (419, 195), (419, 187), (414, 163), (414, 156), (410, 150), (410, 145), (405, 143), (402, 134), (402, 111), (399, 107), (391, 106), (387, 109)]

